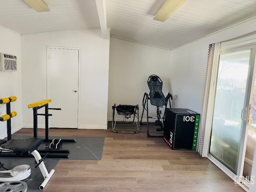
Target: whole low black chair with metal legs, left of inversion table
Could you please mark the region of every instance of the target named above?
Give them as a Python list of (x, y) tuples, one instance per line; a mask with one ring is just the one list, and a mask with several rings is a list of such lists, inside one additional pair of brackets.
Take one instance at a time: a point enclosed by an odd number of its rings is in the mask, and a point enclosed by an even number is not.
[[(140, 123), (139, 123), (139, 106), (137, 105), (118, 105), (114, 104), (112, 106), (113, 115), (112, 115), (112, 131), (115, 133), (138, 133), (140, 132)], [(116, 115), (115, 115), (116, 114)], [(118, 115), (123, 116), (123, 121), (117, 121)], [(115, 119), (116, 116), (116, 119)], [(132, 118), (132, 121), (127, 121), (129, 118)], [(136, 129), (127, 130), (126, 124), (136, 122)], [(125, 130), (116, 130), (116, 123), (124, 123)]]

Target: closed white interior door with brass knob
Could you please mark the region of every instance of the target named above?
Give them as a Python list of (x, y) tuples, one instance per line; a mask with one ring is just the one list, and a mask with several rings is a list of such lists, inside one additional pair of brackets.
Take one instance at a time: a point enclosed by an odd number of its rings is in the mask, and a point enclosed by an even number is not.
[(78, 128), (79, 50), (48, 47), (50, 128)]

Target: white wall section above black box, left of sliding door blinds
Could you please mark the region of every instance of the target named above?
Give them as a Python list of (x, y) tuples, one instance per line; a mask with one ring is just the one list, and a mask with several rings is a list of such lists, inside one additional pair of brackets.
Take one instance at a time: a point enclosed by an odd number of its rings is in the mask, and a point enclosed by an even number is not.
[(174, 108), (201, 113), (208, 44), (194, 42), (171, 52), (170, 92)]

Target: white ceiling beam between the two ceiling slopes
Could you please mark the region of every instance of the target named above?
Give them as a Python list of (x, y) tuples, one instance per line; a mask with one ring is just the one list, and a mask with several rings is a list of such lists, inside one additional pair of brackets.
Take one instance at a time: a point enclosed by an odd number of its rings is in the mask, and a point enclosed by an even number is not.
[(96, 0), (96, 6), (98, 10), (98, 16), (100, 19), (100, 28), (102, 32), (102, 38), (109, 40), (109, 32), (107, 26), (107, 13), (106, 13), (106, 0)]

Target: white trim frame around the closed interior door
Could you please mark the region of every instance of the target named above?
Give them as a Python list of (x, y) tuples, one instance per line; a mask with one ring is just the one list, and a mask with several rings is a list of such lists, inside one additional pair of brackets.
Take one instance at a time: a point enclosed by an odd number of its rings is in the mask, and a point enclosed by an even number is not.
[(64, 46), (46, 46), (46, 97), (50, 99), (50, 49), (68, 49), (78, 50), (78, 109), (77, 109), (77, 128), (80, 128), (80, 100), (81, 100), (81, 48), (78, 47), (64, 47)]

